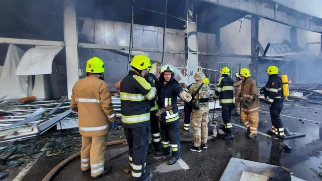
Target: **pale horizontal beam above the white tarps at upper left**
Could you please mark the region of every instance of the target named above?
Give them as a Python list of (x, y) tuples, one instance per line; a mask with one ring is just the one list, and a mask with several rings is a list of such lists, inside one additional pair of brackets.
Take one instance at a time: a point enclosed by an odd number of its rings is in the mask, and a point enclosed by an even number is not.
[(19, 44), (19, 45), (43, 45), (43, 46), (64, 46), (64, 42), (30, 39), (11, 39), (0, 37), (1, 44)]

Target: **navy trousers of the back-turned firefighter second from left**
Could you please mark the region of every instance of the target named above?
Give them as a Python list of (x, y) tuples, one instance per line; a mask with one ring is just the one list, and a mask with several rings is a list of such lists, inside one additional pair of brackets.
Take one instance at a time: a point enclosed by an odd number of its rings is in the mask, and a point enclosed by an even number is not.
[(146, 156), (151, 139), (151, 126), (124, 128), (129, 145), (129, 164), (132, 167), (132, 177), (141, 178), (145, 173)]

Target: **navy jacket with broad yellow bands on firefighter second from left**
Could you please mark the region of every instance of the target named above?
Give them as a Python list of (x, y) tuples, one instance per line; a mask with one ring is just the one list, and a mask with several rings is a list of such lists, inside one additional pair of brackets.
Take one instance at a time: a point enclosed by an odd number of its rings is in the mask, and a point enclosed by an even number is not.
[(121, 116), (124, 128), (137, 128), (150, 124), (150, 100), (156, 89), (145, 78), (131, 70), (121, 81)]

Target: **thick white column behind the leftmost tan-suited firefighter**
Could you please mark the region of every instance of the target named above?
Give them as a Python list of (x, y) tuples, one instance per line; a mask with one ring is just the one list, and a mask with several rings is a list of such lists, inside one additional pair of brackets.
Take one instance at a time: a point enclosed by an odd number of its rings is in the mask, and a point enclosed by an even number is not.
[(66, 50), (67, 91), (68, 98), (70, 98), (72, 88), (79, 78), (75, 0), (64, 0), (64, 41)]

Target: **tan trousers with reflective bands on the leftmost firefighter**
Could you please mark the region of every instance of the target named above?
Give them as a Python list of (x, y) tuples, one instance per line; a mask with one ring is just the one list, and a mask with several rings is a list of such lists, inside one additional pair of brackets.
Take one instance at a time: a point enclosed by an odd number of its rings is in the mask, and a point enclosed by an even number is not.
[(81, 169), (91, 168), (91, 176), (96, 177), (104, 172), (106, 138), (103, 136), (82, 136)]

